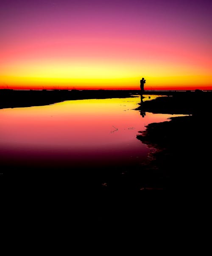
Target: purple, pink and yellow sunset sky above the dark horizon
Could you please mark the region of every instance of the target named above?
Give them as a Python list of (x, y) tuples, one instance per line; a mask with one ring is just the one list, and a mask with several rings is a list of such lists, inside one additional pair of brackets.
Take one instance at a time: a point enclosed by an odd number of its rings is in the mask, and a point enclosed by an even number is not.
[(1, 0), (0, 88), (212, 90), (212, 0)]

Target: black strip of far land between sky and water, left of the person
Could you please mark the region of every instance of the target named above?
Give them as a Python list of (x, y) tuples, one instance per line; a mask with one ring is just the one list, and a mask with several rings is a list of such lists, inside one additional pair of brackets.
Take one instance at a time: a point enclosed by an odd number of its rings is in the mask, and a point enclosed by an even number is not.
[(43, 106), (68, 100), (128, 98), (139, 90), (0, 90), (0, 109)]

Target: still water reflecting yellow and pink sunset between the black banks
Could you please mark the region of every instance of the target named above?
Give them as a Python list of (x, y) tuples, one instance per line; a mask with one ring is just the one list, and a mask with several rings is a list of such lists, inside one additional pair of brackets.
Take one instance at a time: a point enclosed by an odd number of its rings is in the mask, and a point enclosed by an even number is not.
[[(157, 96), (145, 95), (145, 100)], [(0, 110), (0, 163), (3, 166), (130, 168), (149, 149), (136, 136), (167, 114), (145, 113), (140, 97), (63, 101), (39, 107)]]

